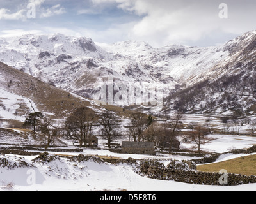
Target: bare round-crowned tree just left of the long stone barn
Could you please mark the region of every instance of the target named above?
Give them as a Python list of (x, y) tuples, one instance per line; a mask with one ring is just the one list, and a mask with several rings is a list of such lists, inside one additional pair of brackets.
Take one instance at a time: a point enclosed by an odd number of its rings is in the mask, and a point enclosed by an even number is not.
[(111, 142), (120, 137), (119, 125), (120, 119), (114, 112), (106, 110), (99, 115), (99, 123), (102, 126), (101, 132), (104, 140), (108, 140), (108, 147), (111, 148)]

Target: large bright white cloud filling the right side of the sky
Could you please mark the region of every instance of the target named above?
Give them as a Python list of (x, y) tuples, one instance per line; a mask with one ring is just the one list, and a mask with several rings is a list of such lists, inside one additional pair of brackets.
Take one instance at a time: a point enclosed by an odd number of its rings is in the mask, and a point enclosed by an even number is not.
[(220, 19), (219, 0), (91, 0), (94, 5), (115, 3), (116, 8), (141, 17), (129, 31), (135, 40), (158, 47), (170, 43), (198, 43), (216, 32), (242, 34), (255, 29), (255, 1), (226, 0), (228, 19)]

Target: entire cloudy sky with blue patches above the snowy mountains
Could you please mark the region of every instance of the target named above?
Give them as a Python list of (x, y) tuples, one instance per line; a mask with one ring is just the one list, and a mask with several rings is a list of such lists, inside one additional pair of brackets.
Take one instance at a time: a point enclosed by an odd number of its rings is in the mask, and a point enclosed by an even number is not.
[(256, 29), (255, 8), (255, 0), (0, 0), (0, 36), (62, 33), (99, 43), (205, 47)]

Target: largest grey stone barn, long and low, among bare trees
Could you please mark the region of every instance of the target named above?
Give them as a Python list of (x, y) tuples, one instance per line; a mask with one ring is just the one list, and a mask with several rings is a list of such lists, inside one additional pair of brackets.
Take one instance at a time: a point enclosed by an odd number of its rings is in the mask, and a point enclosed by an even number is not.
[(124, 154), (156, 154), (154, 142), (122, 142)]

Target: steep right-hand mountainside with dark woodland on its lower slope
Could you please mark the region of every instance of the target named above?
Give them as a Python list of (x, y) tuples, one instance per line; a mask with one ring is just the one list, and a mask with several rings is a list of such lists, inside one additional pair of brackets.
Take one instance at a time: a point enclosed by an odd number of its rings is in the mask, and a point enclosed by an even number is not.
[[(172, 92), (169, 110), (252, 115), (256, 113), (256, 32), (248, 32), (221, 47), (228, 52), (218, 66), (196, 78), (198, 83)], [(166, 109), (168, 109), (166, 108)]]

